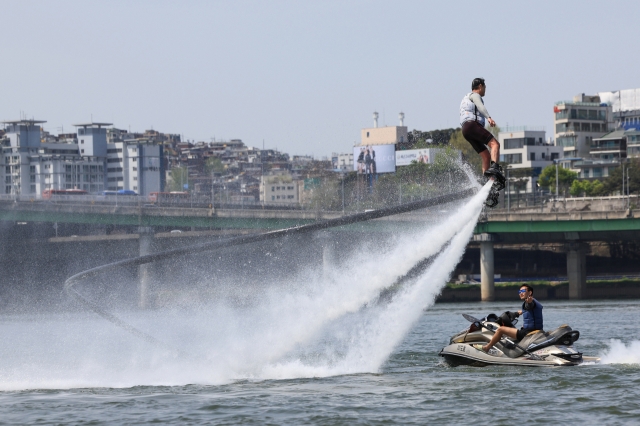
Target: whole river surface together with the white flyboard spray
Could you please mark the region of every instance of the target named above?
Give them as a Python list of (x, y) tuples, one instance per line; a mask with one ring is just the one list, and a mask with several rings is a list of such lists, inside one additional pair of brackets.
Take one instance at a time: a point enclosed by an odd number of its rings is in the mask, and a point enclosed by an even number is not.
[(438, 356), (468, 326), (462, 313), (519, 306), (515, 291), (513, 303), (433, 303), (487, 192), (288, 281), (215, 283), (146, 311), (85, 293), (160, 344), (91, 312), (0, 313), (0, 424), (637, 423), (639, 301), (541, 301), (545, 328), (579, 330), (599, 364), (451, 368)]

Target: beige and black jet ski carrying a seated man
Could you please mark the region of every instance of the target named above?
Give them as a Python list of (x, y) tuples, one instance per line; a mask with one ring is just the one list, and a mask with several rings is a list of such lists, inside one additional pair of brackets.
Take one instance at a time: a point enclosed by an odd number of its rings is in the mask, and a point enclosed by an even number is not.
[(522, 365), (531, 367), (555, 367), (579, 365), (583, 362), (599, 362), (600, 358), (582, 355), (573, 345), (580, 338), (580, 332), (568, 325), (561, 325), (553, 331), (532, 331), (522, 340), (503, 336), (488, 352), (486, 345), (501, 325), (514, 327), (518, 322), (516, 312), (505, 312), (500, 317), (489, 314), (476, 319), (463, 314), (471, 325), (457, 333), (449, 345), (440, 351), (440, 356), (452, 366), (470, 365)]

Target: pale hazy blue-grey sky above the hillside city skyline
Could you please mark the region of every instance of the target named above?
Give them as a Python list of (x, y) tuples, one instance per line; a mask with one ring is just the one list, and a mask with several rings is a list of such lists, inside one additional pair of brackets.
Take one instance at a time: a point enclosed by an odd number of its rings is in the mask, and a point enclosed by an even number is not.
[(113, 122), (290, 154), (360, 129), (458, 126), (474, 77), (498, 125), (640, 87), (637, 1), (0, 1), (0, 119)]

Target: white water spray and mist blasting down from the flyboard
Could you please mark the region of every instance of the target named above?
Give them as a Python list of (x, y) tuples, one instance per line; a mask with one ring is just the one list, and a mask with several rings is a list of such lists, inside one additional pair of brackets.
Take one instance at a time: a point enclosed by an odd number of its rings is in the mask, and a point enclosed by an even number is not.
[[(489, 186), (453, 214), (329, 270), (266, 282), (237, 303), (233, 283), (189, 309), (125, 310), (120, 318), (165, 342), (141, 341), (88, 312), (14, 315), (0, 349), (0, 389), (223, 384), (377, 372), (462, 256)], [(450, 242), (449, 244), (447, 244)], [(436, 256), (388, 301), (380, 292)], [(228, 290), (228, 292), (227, 292)], [(178, 354), (171, 350), (175, 347)], [(186, 355), (185, 355), (186, 354)]]

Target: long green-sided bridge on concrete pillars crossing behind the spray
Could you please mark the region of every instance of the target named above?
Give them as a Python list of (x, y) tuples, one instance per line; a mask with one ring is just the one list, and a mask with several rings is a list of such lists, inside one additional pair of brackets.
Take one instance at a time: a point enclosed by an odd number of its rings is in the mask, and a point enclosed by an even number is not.
[[(587, 243), (640, 240), (640, 217), (634, 217), (633, 210), (623, 209), (624, 203), (618, 203), (621, 205), (616, 206), (615, 202), (601, 201), (602, 208), (599, 211), (585, 210), (584, 206), (564, 208), (564, 211), (548, 207), (547, 211), (539, 211), (537, 208), (529, 211), (493, 210), (481, 217), (473, 241), (480, 245), (482, 300), (490, 301), (495, 297), (493, 277), (496, 243), (562, 243), (567, 256), (569, 297), (583, 298), (586, 289)], [(420, 212), (407, 212), (357, 224), (346, 224), (337, 229), (366, 232), (411, 230), (421, 226), (425, 221), (440, 217), (440, 210), (440, 207), (432, 207)], [(342, 216), (343, 212), (310, 210), (212, 209), (208, 206), (158, 207), (148, 204), (0, 200), (0, 221), (132, 226), (141, 230), (138, 237), (140, 244), (145, 247), (148, 246), (149, 233), (153, 233), (153, 229), (158, 227), (190, 228), (194, 231), (215, 230), (225, 235), (240, 235), (309, 225)], [(103, 235), (99, 238), (117, 239), (122, 238), (122, 235)]]

